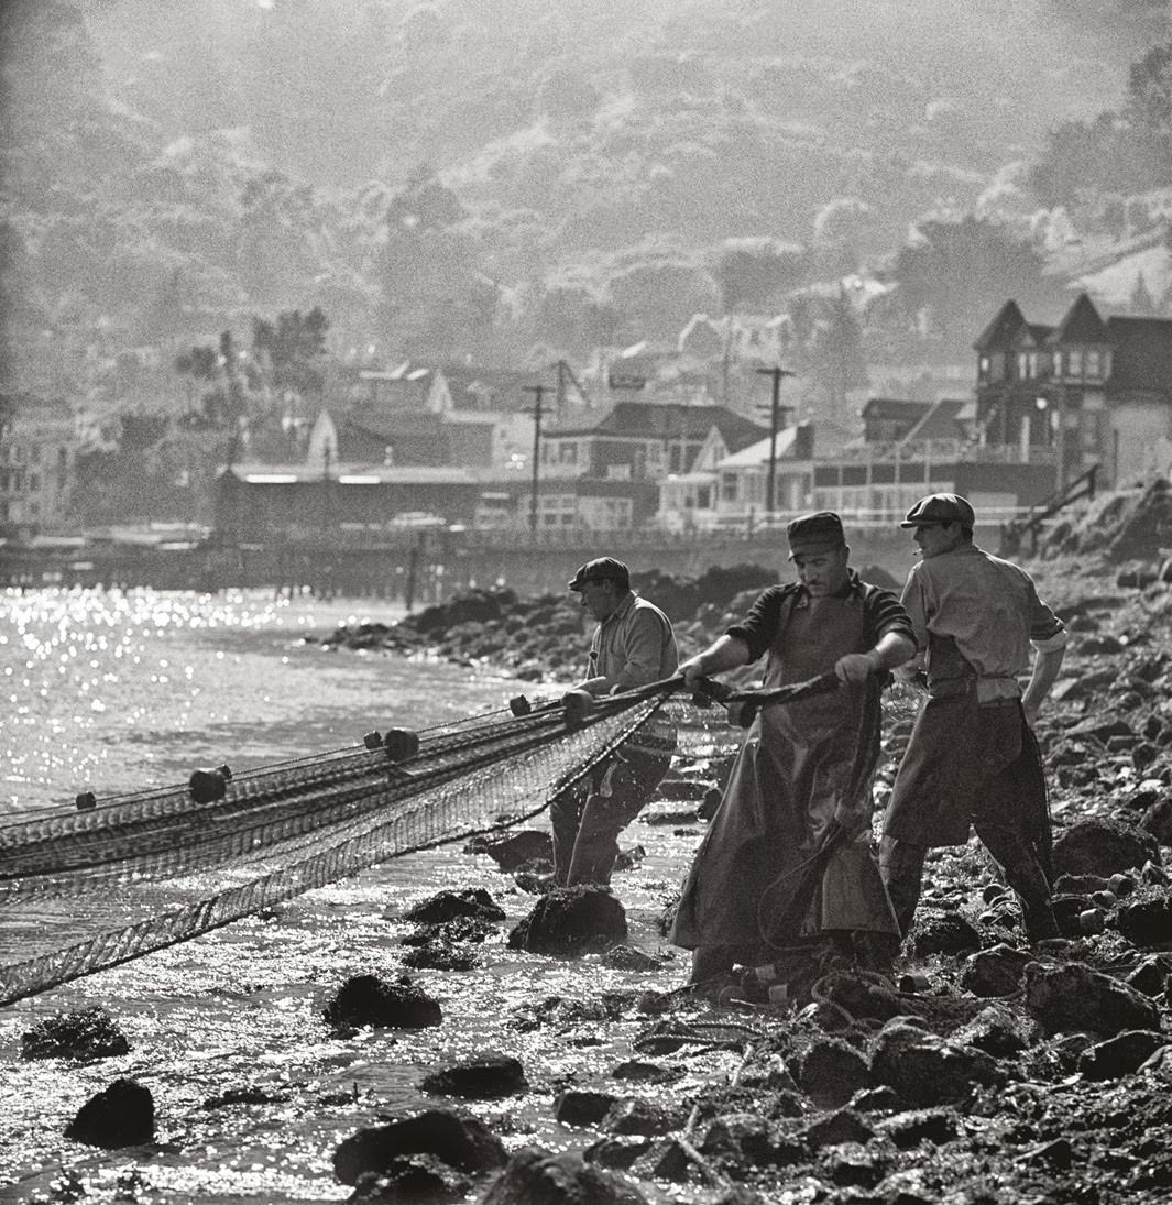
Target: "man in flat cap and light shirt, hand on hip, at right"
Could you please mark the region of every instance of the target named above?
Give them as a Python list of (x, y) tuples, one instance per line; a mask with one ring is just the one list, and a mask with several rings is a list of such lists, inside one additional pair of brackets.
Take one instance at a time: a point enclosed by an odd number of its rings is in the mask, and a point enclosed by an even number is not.
[(920, 562), (902, 595), (917, 656), (900, 675), (926, 675), (927, 698), (888, 805), (881, 868), (907, 934), (926, 851), (962, 845), (972, 825), (1018, 894), (1026, 936), (1040, 941), (1059, 930), (1046, 780), (1030, 724), (1062, 665), (1066, 628), (1024, 569), (973, 543), (974, 522), (966, 499), (930, 494), (901, 524)]

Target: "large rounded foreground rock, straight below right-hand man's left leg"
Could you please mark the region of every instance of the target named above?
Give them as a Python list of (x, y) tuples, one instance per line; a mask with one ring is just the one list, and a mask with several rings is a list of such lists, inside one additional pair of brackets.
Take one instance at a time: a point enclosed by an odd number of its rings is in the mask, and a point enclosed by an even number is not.
[(905, 1017), (879, 1030), (871, 1074), (915, 1106), (950, 1104), (965, 1099), (978, 1084), (1005, 1082), (1005, 1072), (984, 1051), (949, 1041)]

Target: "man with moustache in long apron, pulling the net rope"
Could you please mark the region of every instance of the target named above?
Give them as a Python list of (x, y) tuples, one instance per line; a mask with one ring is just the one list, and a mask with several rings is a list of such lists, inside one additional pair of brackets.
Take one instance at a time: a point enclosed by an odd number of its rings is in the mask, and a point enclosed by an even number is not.
[[(912, 624), (890, 590), (850, 569), (832, 511), (794, 519), (787, 535), (797, 581), (764, 590), (743, 622), (681, 672), (695, 687), (767, 656), (766, 688), (831, 670), (841, 686), (762, 706), (744, 737), (670, 939), (693, 951), (693, 983), (719, 982), (738, 963), (776, 965), (784, 951), (802, 950), (802, 939), (807, 951), (846, 953), (873, 969), (889, 965), (899, 946), (871, 847), (871, 776), (879, 693), (888, 671), (915, 652)], [(803, 871), (814, 876), (809, 893)], [(794, 957), (809, 962), (808, 953)]]

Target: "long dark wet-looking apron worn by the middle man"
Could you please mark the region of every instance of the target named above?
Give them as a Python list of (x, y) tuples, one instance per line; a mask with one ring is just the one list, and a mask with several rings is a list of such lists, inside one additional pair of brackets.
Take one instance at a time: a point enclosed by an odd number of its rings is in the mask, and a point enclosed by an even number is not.
[[(862, 599), (811, 599), (783, 616), (764, 687), (828, 672), (848, 652), (871, 647)], [(873, 695), (872, 695), (873, 698)], [(821, 930), (897, 933), (871, 842), (871, 771), (855, 765), (867, 723), (862, 683), (762, 707), (696, 853), (672, 941), (687, 948), (770, 945)], [(872, 706), (877, 706), (873, 704)], [(830, 856), (799, 933), (778, 933), (803, 865), (831, 822), (847, 831)]]

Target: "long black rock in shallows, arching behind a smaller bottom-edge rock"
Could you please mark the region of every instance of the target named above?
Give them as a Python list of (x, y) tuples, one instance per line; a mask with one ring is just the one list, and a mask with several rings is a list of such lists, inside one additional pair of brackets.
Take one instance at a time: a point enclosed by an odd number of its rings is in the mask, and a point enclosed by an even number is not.
[(450, 1168), (483, 1175), (508, 1162), (505, 1147), (483, 1122), (447, 1109), (429, 1109), (389, 1125), (360, 1129), (334, 1151), (334, 1175), (343, 1185), (365, 1172), (385, 1175), (395, 1160), (434, 1154)]

